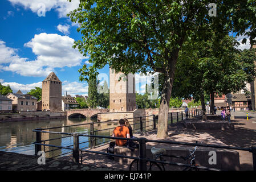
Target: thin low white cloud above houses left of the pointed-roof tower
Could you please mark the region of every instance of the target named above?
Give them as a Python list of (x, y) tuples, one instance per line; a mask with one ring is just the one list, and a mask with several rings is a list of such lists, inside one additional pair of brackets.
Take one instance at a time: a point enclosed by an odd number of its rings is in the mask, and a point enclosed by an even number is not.
[(18, 90), (21, 90), (22, 93), (30, 92), (31, 89), (34, 89), (36, 87), (42, 88), (42, 81), (35, 82), (32, 84), (19, 84), (17, 82), (3, 82), (2, 85), (10, 85), (11, 89), (14, 93), (18, 92)]

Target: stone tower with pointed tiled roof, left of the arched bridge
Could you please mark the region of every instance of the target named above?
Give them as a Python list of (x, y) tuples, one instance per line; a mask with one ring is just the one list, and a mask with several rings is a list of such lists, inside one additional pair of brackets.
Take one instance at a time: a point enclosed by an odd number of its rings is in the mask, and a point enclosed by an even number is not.
[(62, 111), (62, 82), (54, 72), (42, 82), (42, 110)]

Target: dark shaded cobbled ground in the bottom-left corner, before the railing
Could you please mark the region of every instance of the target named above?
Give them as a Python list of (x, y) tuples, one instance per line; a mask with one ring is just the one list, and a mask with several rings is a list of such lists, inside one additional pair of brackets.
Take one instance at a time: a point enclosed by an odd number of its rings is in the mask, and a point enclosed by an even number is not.
[(39, 156), (0, 151), (0, 171), (113, 171), (113, 168), (90, 164), (74, 164), (68, 160), (46, 159), (38, 164)]

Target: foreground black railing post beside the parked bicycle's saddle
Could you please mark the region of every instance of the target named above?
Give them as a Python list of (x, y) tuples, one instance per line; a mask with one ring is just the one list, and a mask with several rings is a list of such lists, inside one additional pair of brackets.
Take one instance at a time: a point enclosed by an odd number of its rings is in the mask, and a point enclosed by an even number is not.
[(146, 138), (139, 139), (139, 171), (147, 171)]

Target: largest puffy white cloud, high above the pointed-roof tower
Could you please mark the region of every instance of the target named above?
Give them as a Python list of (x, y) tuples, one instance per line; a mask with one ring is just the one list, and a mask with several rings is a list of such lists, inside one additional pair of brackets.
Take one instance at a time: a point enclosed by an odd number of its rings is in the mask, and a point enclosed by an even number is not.
[(74, 39), (58, 34), (42, 33), (35, 35), (30, 42), (24, 44), (30, 47), (37, 55), (35, 60), (15, 55), (16, 50), (5, 46), (0, 41), (1, 63), (0, 70), (11, 71), (22, 76), (47, 76), (54, 68), (74, 67), (80, 65), (83, 55), (77, 49), (72, 48)]

